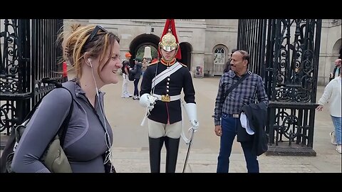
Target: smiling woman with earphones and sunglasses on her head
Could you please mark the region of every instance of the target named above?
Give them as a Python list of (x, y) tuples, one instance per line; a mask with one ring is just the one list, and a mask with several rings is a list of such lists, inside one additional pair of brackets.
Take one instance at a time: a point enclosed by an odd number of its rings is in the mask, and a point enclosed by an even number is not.
[[(63, 37), (63, 35), (61, 35)], [(76, 70), (76, 78), (63, 82), (66, 89), (54, 89), (43, 97), (28, 122), (16, 148), (12, 169), (16, 173), (48, 173), (39, 160), (66, 118), (63, 150), (73, 173), (108, 173), (113, 132), (105, 117), (104, 85), (116, 84), (122, 67), (120, 39), (101, 26), (73, 27), (63, 41), (65, 59)], [(111, 165), (109, 165), (111, 166)]]

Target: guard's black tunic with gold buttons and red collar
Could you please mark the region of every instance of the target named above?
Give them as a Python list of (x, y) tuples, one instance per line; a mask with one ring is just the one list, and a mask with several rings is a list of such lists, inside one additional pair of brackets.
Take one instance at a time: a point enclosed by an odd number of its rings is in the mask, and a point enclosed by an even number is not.
[[(142, 77), (140, 95), (148, 93), (152, 95), (152, 79), (155, 78), (155, 72), (157, 68), (157, 75), (162, 73), (171, 65), (174, 65), (176, 60), (170, 64), (165, 63), (163, 60), (159, 60), (157, 63), (151, 63), (147, 66), (145, 73)], [(180, 95), (180, 92), (184, 92), (184, 100), (187, 103), (195, 102), (195, 89), (192, 84), (192, 77), (187, 69), (186, 65), (182, 64), (182, 68), (178, 69), (175, 73), (172, 73), (169, 77), (165, 78), (157, 85), (155, 85), (154, 93), (157, 95)], [(182, 98), (181, 98), (182, 99)], [(148, 116), (149, 119), (160, 122), (163, 124), (170, 124), (179, 122), (182, 120), (182, 109), (180, 100), (172, 102), (162, 102), (157, 100), (155, 107)]]

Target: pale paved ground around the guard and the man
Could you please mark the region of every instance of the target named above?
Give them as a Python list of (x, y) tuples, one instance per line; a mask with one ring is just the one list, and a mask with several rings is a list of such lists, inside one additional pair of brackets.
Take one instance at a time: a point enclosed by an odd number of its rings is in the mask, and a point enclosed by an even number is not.
[[(70, 76), (70, 74), (69, 74)], [(194, 78), (197, 101), (199, 131), (193, 140), (192, 150), (186, 172), (214, 173), (217, 166), (219, 137), (214, 134), (214, 123), (211, 117), (214, 111), (214, 100), (217, 95), (219, 78)], [(120, 97), (122, 78), (116, 85), (102, 88), (105, 94), (105, 114), (114, 132), (113, 162), (120, 173), (147, 173), (150, 171), (148, 158), (147, 124), (140, 122), (145, 110), (138, 100)], [(321, 97), (324, 87), (318, 87), (317, 98)], [(133, 92), (133, 82), (129, 90)], [(185, 129), (190, 124), (185, 122)], [(341, 173), (341, 154), (335, 151), (330, 143), (328, 132), (333, 129), (328, 106), (323, 112), (316, 112), (314, 131), (314, 150), (317, 156), (259, 156), (261, 172), (273, 173)], [(182, 172), (187, 152), (185, 142), (180, 144), (176, 172)], [(245, 173), (246, 164), (239, 143), (232, 149), (229, 172)], [(165, 147), (162, 149), (161, 171), (165, 170)]]

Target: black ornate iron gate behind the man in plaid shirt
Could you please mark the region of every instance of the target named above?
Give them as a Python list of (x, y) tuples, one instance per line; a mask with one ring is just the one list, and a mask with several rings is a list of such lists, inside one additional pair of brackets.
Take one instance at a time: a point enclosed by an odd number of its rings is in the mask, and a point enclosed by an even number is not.
[(237, 48), (264, 79), (270, 104), (266, 154), (316, 156), (314, 117), (321, 19), (240, 19)]

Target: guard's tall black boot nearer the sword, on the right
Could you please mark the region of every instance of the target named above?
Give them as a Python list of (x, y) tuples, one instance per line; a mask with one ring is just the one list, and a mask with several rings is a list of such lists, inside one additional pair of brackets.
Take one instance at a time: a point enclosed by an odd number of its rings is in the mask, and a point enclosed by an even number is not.
[(180, 138), (172, 139), (170, 137), (165, 137), (165, 146), (166, 146), (166, 173), (175, 173), (176, 164), (177, 164), (177, 156), (178, 156), (178, 147), (180, 146)]

